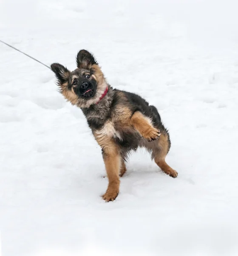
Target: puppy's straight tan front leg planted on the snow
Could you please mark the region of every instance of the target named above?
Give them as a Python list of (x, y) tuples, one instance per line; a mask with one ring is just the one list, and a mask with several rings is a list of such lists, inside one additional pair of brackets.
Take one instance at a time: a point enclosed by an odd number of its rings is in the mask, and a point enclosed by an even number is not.
[(121, 165), (121, 157), (116, 145), (109, 143), (102, 148), (103, 160), (108, 175), (108, 189), (102, 198), (106, 201), (113, 201), (119, 193), (119, 170)]

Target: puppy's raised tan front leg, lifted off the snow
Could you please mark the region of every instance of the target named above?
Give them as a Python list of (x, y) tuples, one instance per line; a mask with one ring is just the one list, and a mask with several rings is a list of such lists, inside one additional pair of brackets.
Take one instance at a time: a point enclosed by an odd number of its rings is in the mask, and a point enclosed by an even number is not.
[(159, 131), (152, 126), (150, 119), (141, 112), (135, 112), (131, 117), (131, 122), (146, 140), (151, 141), (159, 138)]

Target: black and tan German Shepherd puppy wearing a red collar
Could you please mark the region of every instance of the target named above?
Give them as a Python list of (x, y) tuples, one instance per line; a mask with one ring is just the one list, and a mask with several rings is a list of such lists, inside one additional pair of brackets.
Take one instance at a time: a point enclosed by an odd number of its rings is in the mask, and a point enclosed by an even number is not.
[(144, 147), (164, 173), (178, 173), (166, 162), (170, 136), (156, 107), (135, 93), (113, 89), (105, 79), (94, 55), (80, 50), (77, 69), (69, 71), (59, 63), (51, 64), (59, 92), (81, 108), (95, 140), (102, 149), (108, 188), (102, 198), (113, 201), (119, 194), (119, 177), (126, 172), (130, 151)]

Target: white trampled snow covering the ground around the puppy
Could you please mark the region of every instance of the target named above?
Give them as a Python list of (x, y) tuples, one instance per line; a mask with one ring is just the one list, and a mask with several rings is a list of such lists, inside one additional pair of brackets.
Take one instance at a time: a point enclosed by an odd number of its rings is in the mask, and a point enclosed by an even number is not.
[[(166, 3), (165, 3), (166, 2)], [(238, 254), (235, 1), (3, 0), (0, 40), (74, 69), (94, 52), (109, 83), (159, 109), (164, 175), (133, 154), (105, 203), (101, 151), (51, 70), (0, 44), (3, 256)]]

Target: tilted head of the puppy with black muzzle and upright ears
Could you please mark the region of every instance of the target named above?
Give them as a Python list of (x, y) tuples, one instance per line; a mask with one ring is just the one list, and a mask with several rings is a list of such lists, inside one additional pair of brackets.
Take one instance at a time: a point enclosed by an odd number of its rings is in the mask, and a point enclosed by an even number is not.
[(59, 91), (65, 99), (79, 108), (88, 108), (99, 102), (108, 85), (90, 52), (79, 51), (76, 63), (77, 69), (72, 72), (59, 63), (51, 64), (51, 69), (57, 78)]

